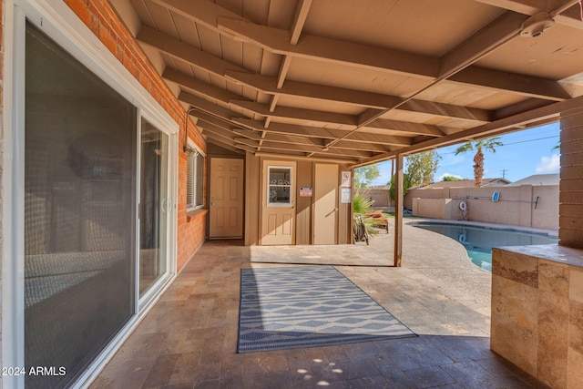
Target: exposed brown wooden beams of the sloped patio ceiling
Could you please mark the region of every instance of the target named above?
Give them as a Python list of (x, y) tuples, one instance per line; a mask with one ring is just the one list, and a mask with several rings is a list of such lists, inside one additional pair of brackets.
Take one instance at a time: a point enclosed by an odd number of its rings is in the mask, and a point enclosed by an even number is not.
[[(167, 69), (164, 72), (163, 77), (178, 84), (182, 89), (179, 100), (199, 109), (202, 112), (199, 116), (209, 116), (207, 119), (199, 118), (205, 134), (234, 148), (252, 149), (253, 152), (259, 152), (264, 148), (288, 150), (292, 153), (304, 153), (308, 157), (330, 154), (340, 158), (357, 159), (361, 164), (363, 161), (370, 162), (394, 156), (397, 148), (403, 148), (405, 152), (472, 133), (461, 128), (440, 128), (382, 118), (390, 111), (471, 120), (479, 126), (477, 128), (483, 128), (487, 132), (488, 123), (496, 119), (500, 122), (499, 119), (504, 115), (520, 115), (524, 112), (521, 109), (536, 110), (553, 106), (552, 102), (571, 98), (556, 80), (509, 74), (496, 69), (476, 67), (474, 64), (519, 36), (522, 23), (534, 10), (529, 3), (534, 3), (537, 11), (550, 8), (548, 12), (558, 13), (559, 10), (567, 9), (575, 3), (573, 1), (485, 0), (484, 3), (505, 6), (507, 11), (440, 57), (422, 56), (304, 34), (302, 30), (312, 0), (298, 1), (290, 30), (255, 24), (207, 0), (153, 1), (220, 35), (230, 36), (236, 41), (251, 43), (271, 54), (281, 55), (277, 75), (264, 76), (249, 73), (244, 67), (210, 55), (198, 47), (190, 46), (151, 27), (143, 26), (139, 31), (137, 39), (142, 44), (154, 47), (211, 75), (251, 87), (271, 97), (268, 103), (260, 103), (222, 87), (214, 87), (177, 70)], [(289, 80), (287, 75), (294, 57), (312, 60), (314, 64), (340, 64), (345, 67), (371, 70), (381, 75), (384, 73), (405, 75), (426, 82), (424, 87), (403, 97)], [(507, 107), (506, 110), (488, 111), (415, 98), (445, 80), (465, 87), (486, 88), (528, 99)], [(282, 97), (300, 98), (304, 101), (315, 99), (329, 102), (330, 107), (351, 106), (352, 110), (353, 107), (360, 107), (362, 112), (359, 115), (347, 115), (326, 110), (283, 107), (279, 104)], [(217, 104), (219, 102), (222, 104)], [(320, 106), (326, 107), (325, 104)], [(228, 107), (239, 108), (245, 115), (253, 118), (242, 118), (243, 115)], [(257, 120), (258, 117), (262, 119)], [(289, 124), (290, 121), (343, 126), (343, 129)], [(365, 128), (395, 131), (406, 136), (376, 134), (371, 132), (373, 129), (366, 132)], [(452, 134), (453, 132), (455, 134)], [(365, 146), (367, 143), (370, 146)]]

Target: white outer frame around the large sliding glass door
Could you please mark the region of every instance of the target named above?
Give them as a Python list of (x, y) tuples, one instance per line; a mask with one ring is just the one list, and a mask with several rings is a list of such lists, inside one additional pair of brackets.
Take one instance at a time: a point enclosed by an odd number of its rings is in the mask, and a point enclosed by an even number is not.
[[(3, 7), (5, 72), (3, 78), (4, 115), (4, 174), (3, 199), (3, 247), (2, 247), (2, 365), (24, 366), (25, 362), (25, 43), (26, 21), (43, 31), (57, 45), (77, 58), (85, 67), (99, 77), (109, 87), (116, 90), (138, 109), (137, 128), (144, 118), (169, 135), (169, 208), (173, 211), (169, 218), (169, 277), (160, 282), (156, 295), (136, 303), (136, 314), (107, 344), (97, 359), (89, 365), (76, 383), (87, 386), (105, 367), (121, 344), (136, 328), (141, 319), (151, 309), (154, 302), (176, 277), (178, 230), (178, 134), (179, 124), (162, 108), (148, 91), (142, 87), (128, 69), (119, 63), (107, 47), (73, 13), (62, 0), (5, 0)], [(139, 135), (139, 132), (137, 132)], [(139, 137), (138, 140), (139, 142)], [(138, 143), (139, 151), (139, 143)], [(138, 158), (138, 156), (137, 156)], [(139, 169), (139, 165), (137, 165)], [(139, 171), (139, 170), (138, 170)], [(139, 184), (139, 176), (137, 177)], [(139, 186), (137, 185), (137, 191)], [(138, 196), (138, 193), (137, 193)], [(138, 197), (137, 197), (138, 199)], [(137, 201), (138, 207), (138, 201)], [(138, 214), (138, 210), (136, 210)], [(138, 225), (138, 218), (136, 218)], [(138, 240), (137, 240), (138, 244)], [(138, 255), (135, 258), (138, 266)], [(138, 282), (136, 282), (138, 299)], [(145, 301), (147, 300), (147, 301)], [(2, 385), (10, 388), (24, 388), (23, 375), (5, 375)]]

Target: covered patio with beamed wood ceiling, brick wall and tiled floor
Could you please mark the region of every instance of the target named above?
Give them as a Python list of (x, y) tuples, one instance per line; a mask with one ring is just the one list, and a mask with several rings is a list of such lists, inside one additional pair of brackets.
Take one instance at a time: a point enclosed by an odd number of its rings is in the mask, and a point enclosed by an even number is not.
[[(1, 3), (2, 362), (66, 367), (4, 387), (539, 385), (490, 348), (583, 386), (579, 0)], [(490, 274), (408, 234), (404, 157), (555, 122), (558, 246)], [(388, 159), (391, 233), (348, 245)], [(240, 271), (294, 256), (419, 336), (236, 353)]]

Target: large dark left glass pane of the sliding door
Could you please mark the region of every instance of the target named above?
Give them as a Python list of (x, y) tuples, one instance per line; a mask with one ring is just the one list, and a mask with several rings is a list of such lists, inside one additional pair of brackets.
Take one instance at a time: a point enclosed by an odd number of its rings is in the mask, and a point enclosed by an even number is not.
[(137, 108), (26, 26), (27, 388), (65, 387), (136, 312)]

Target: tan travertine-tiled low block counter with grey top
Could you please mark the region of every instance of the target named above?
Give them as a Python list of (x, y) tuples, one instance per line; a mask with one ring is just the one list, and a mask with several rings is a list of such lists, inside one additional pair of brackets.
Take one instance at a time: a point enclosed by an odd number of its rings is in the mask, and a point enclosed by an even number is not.
[(553, 388), (583, 387), (583, 251), (494, 249), (490, 348)]

